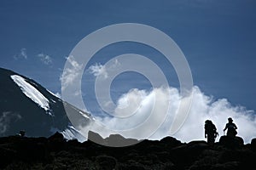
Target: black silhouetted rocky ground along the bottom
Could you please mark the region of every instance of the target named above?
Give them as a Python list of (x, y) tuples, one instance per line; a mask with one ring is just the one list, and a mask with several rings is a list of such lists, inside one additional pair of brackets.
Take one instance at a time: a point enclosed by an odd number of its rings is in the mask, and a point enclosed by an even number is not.
[[(90, 135), (97, 134), (90, 132)], [(119, 139), (124, 138), (119, 136)], [(255, 170), (255, 161), (256, 139), (243, 144), (239, 137), (222, 136), (213, 145), (205, 141), (181, 143), (166, 137), (121, 148), (91, 141), (66, 141), (61, 133), (49, 138), (0, 138), (0, 169)]]

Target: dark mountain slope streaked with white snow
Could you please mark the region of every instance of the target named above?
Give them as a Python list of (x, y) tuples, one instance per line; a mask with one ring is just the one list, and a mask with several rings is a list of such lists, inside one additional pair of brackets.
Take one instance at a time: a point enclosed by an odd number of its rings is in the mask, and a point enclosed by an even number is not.
[(26, 131), (27, 136), (49, 137), (56, 131), (67, 139), (84, 137), (71, 125), (63, 105), (81, 117), (92, 120), (89, 113), (63, 102), (38, 82), (14, 71), (0, 68), (0, 136)]

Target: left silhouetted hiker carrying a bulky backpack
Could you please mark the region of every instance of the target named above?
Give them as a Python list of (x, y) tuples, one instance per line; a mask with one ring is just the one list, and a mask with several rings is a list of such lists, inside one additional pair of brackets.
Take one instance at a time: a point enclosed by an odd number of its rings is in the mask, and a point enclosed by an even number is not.
[(208, 144), (214, 144), (215, 139), (218, 136), (217, 128), (212, 121), (207, 120), (205, 122), (205, 138), (207, 138)]

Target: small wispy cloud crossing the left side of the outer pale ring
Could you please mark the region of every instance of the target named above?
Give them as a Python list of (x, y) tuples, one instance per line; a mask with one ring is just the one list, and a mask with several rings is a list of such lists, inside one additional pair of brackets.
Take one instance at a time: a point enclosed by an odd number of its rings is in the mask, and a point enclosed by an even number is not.
[(73, 56), (69, 56), (67, 58), (67, 64), (69, 65), (65, 71), (62, 72), (60, 81), (61, 81), (61, 88), (67, 88), (68, 85), (72, 84), (74, 80), (79, 77), (79, 72), (82, 69), (83, 65), (79, 64)]

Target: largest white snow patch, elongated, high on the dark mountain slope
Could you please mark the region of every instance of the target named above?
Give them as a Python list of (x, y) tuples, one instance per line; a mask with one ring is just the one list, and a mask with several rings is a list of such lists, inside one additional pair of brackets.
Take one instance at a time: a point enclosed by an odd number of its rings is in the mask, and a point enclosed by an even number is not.
[(49, 100), (45, 98), (37, 88), (34, 88), (30, 83), (26, 82), (23, 77), (18, 75), (12, 75), (11, 78), (20, 87), (21, 91), (26, 95), (26, 97), (32, 99), (32, 101), (42, 107), (47, 114), (52, 116), (52, 114), (49, 112)]

